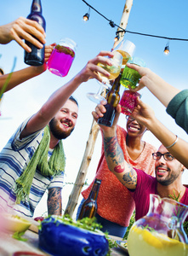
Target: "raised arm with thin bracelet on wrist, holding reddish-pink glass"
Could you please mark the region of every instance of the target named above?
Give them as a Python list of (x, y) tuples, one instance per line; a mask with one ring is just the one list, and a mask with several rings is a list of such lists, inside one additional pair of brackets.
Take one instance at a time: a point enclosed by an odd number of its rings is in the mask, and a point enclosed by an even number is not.
[(188, 168), (188, 143), (181, 138), (178, 138), (178, 141), (174, 143), (176, 141), (175, 134), (172, 131), (169, 131), (168, 128), (156, 118), (154, 111), (139, 98), (138, 106), (134, 109), (131, 116), (140, 122), (140, 124), (145, 125), (164, 147), (169, 147), (174, 144), (168, 148), (168, 151)]

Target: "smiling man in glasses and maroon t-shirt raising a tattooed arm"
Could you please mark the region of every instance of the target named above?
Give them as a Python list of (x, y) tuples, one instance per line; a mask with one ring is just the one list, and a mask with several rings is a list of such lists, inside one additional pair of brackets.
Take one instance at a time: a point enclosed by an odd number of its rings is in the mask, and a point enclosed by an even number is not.
[[(103, 116), (105, 109), (103, 105), (98, 105), (93, 112), (97, 121)], [(111, 127), (100, 125), (103, 132), (105, 149), (105, 159), (110, 171), (116, 175), (118, 180), (125, 186), (134, 198), (135, 219), (142, 218), (149, 210), (150, 194), (161, 197), (178, 198), (179, 202), (188, 205), (188, 189), (182, 184), (181, 176), (185, 169), (172, 154), (168, 152), (168, 146), (163, 145), (157, 152), (152, 154), (155, 162), (156, 177), (151, 177), (140, 169), (136, 169), (124, 159), (122, 148), (117, 141), (117, 120), (121, 113), (121, 106), (117, 105), (117, 113)], [(136, 114), (132, 114), (136, 118)], [(138, 118), (139, 120), (139, 118)], [(162, 126), (162, 131), (165, 131)]]

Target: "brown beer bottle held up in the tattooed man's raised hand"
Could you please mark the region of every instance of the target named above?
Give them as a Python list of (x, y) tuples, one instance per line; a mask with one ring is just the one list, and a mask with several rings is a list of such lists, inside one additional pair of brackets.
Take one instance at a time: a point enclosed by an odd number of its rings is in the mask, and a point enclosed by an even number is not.
[(106, 95), (107, 103), (105, 104), (106, 112), (104, 116), (98, 119), (99, 125), (105, 125), (111, 127), (115, 118), (116, 107), (120, 100), (119, 89), (120, 89), (120, 79), (122, 73), (119, 74), (117, 79), (115, 79), (111, 90)]

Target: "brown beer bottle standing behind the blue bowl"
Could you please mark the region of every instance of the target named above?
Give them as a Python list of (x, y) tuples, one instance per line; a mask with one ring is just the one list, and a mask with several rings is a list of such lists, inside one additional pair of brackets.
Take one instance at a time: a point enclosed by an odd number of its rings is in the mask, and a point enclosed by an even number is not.
[(95, 178), (94, 185), (88, 195), (88, 198), (83, 202), (78, 219), (82, 218), (94, 218), (95, 213), (97, 212), (97, 196), (100, 190), (101, 180)]

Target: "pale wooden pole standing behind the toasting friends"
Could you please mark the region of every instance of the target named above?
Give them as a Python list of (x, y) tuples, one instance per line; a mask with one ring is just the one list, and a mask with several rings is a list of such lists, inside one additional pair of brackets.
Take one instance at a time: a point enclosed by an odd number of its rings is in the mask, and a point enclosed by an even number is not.
[[(125, 6), (122, 12), (122, 19), (119, 25), (123, 29), (126, 29), (128, 25), (128, 16), (130, 14), (132, 5), (133, 5), (133, 0), (126, 0)], [(121, 31), (121, 29), (118, 28), (117, 32), (118, 31)], [(122, 41), (123, 37), (124, 37), (124, 32), (119, 32), (119, 40), (117, 40), (117, 42), (114, 43), (113, 48), (115, 48), (116, 45)], [(83, 189), (83, 184), (85, 183), (85, 177), (88, 172), (88, 166), (92, 159), (92, 154), (94, 153), (94, 144), (96, 142), (99, 131), (100, 131), (99, 125), (97, 125), (97, 123), (93, 120), (93, 123), (91, 125), (91, 130), (88, 136), (88, 141), (86, 143), (85, 153), (83, 155), (83, 161), (81, 163), (79, 172), (77, 173), (77, 178), (73, 186), (73, 189), (71, 190), (71, 195), (69, 196), (69, 201), (66, 205), (66, 210), (64, 212), (65, 215), (69, 214), (71, 218), (75, 208), (77, 207), (77, 201)]]

